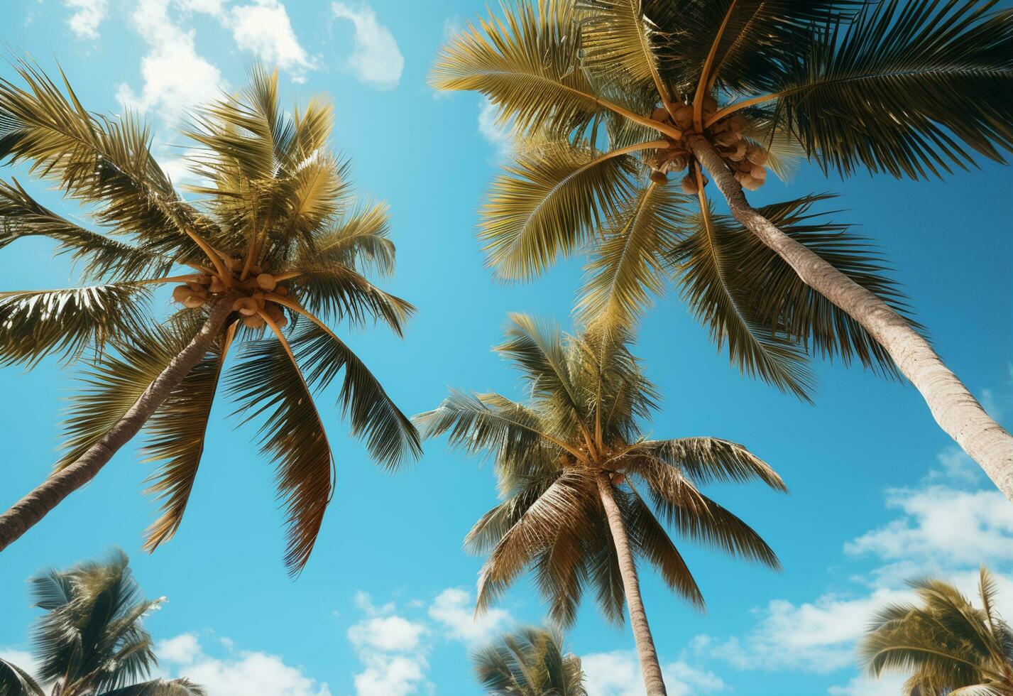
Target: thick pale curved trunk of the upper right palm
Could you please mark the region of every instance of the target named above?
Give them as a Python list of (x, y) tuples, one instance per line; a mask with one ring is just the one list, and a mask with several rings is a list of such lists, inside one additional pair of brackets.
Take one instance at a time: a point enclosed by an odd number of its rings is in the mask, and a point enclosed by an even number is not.
[(714, 148), (700, 135), (690, 150), (714, 177), (734, 218), (773, 249), (807, 286), (847, 312), (886, 349), (929, 405), (939, 427), (1013, 500), (1013, 436), (990, 416), (932, 345), (876, 295), (799, 244), (754, 210)]

